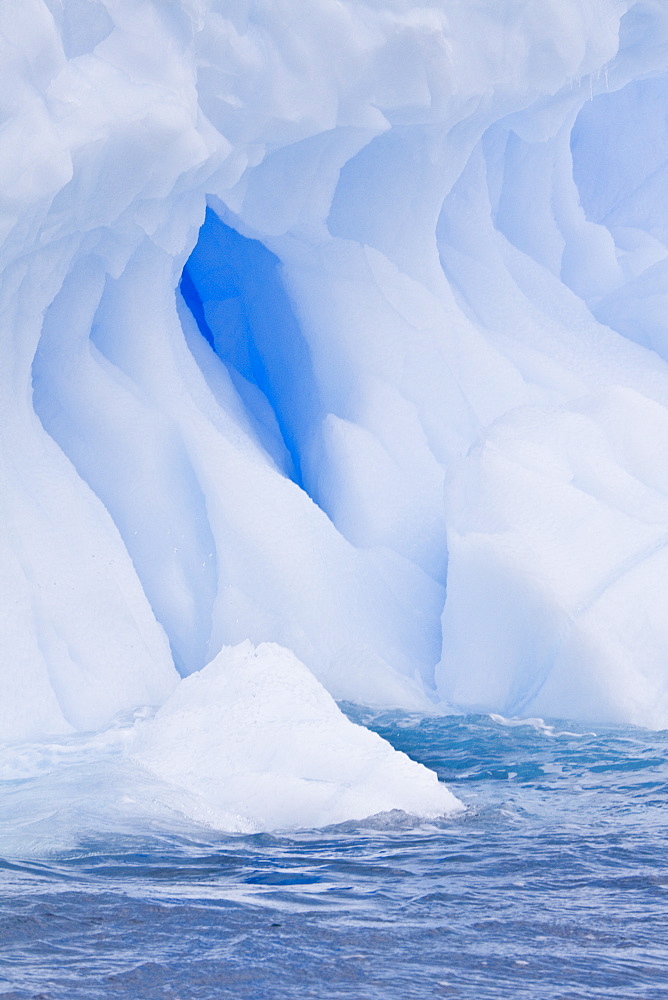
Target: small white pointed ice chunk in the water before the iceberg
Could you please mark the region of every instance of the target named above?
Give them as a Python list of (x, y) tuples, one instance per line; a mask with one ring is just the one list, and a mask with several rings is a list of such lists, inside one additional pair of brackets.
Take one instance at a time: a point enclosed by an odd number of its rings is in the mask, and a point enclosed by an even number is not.
[[(137, 727), (133, 755), (198, 822), (255, 831), (461, 803), (433, 771), (352, 723), (292, 652), (226, 646)], [(172, 800), (173, 801), (173, 800)]]

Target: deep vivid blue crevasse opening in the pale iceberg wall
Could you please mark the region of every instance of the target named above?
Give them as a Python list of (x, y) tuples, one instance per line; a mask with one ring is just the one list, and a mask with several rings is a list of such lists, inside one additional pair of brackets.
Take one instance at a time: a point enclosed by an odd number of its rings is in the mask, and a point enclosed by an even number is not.
[(208, 208), (179, 288), (251, 419), (266, 422), (269, 405), (292, 460), (291, 478), (305, 488), (303, 456), (317, 395), (308, 345), (280, 267), (264, 244), (242, 236)]

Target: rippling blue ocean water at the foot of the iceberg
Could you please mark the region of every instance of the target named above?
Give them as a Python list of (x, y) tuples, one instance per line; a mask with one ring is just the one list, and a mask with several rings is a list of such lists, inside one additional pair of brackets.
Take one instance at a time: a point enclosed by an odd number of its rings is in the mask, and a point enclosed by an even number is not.
[(5, 771), (1, 1000), (668, 997), (668, 733), (346, 710), (466, 813), (141, 831), (76, 741)]

